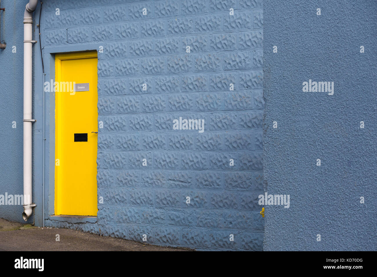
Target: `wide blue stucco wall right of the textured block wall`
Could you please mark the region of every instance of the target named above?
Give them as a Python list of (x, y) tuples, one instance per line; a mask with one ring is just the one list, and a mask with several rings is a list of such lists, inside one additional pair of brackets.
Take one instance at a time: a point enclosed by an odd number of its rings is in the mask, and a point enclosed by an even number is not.
[[(376, 8), (264, 1), (264, 189), (290, 194), (266, 206), (264, 250), (377, 249)], [(303, 92), (309, 79), (334, 94)]]

